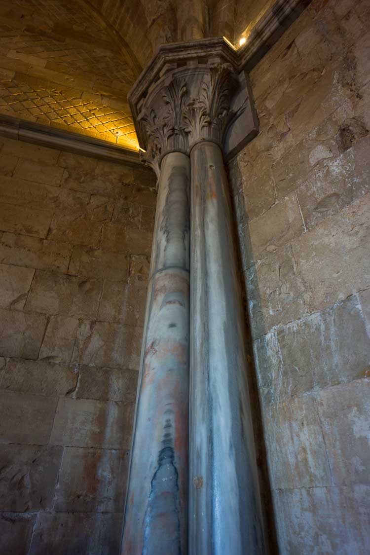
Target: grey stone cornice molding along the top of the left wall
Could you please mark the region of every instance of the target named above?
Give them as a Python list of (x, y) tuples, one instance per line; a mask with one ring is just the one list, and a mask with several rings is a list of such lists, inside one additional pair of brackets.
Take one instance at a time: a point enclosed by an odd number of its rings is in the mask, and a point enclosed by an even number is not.
[(79, 133), (71, 133), (55, 129), (49, 125), (27, 122), (0, 114), (0, 136), (39, 144), (43, 147), (67, 150), (75, 154), (93, 156), (110, 162), (126, 165), (140, 164), (139, 153), (109, 144), (107, 141), (84, 137)]

